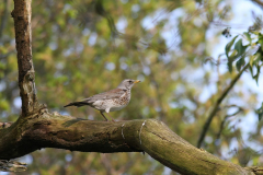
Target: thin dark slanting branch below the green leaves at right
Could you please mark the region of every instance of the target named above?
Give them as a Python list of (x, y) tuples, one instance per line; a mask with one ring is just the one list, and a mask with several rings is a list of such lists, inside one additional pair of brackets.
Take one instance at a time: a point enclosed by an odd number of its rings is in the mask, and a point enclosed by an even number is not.
[(236, 75), (236, 78), (230, 82), (230, 84), (222, 91), (221, 95), (218, 97), (218, 100), (216, 101), (216, 104), (215, 106), (213, 107), (210, 114), (208, 115), (208, 118), (203, 127), (203, 130), (201, 132), (201, 136), (199, 136), (199, 139), (198, 139), (198, 142), (197, 142), (197, 148), (201, 148), (204, 139), (205, 139), (205, 136), (206, 136), (206, 132), (210, 126), (210, 122), (213, 120), (213, 118), (215, 117), (222, 100), (227, 96), (227, 94), (229, 93), (229, 91), (233, 88), (233, 85), (236, 84), (236, 82), (239, 80), (239, 78), (241, 77), (241, 74), (244, 72), (245, 69), (249, 68), (249, 63), (245, 65), (243, 67), (243, 69)]

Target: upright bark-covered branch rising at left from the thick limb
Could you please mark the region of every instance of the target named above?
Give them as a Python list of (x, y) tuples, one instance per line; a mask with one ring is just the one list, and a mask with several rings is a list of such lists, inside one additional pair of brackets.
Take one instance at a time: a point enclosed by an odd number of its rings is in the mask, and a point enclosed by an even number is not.
[(19, 86), (22, 98), (22, 117), (44, 108), (37, 103), (35, 71), (32, 61), (31, 0), (14, 0), (15, 44), (19, 63)]

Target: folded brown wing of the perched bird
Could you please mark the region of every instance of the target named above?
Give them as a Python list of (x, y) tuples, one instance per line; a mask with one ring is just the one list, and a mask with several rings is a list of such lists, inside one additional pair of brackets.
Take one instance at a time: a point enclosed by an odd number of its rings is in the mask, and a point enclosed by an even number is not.
[(126, 91), (122, 89), (114, 89), (107, 92), (103, 92), (91, 97), (84, 98), (81, 102), (93, 103), (95, 101), (103, 101), (103, 100), (113, 100), (119, 98)]

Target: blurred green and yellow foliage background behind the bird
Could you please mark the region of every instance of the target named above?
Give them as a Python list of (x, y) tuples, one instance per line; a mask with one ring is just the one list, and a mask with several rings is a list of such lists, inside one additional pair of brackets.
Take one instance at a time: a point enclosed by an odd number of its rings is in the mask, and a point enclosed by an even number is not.
[[(233, 3), (34, 1), (33, 58), (38, 98), (61, 114), (70, 112), (72, 116), (99, 120), (100, 114), (91, 108), (65, 110), (62, 106), (112, 89), (125, 78), (138, 78), (144, 83), (133, 91), (129, 106), (113, 116), (117, 119), (155, 117), (196, 144), (206, 116), (237, 75), (236, 70), (229, 73), (224, 69), (227, 67), (224, 56), (218, 59), (209, 57), (219, 31), (230, 20)], [(10, 0), (0, 4), (0, 14), (4, 19), (0, 27), (4, 28), (0, 33), (2, 121), (15, 121), (21, 113), (13, 21), (5, 15), (8, 11), (10, 14), (12, 7)], [(221, 26), (218, 33), (207, 37), (218, 23)], [(249, 112), (261, 103), (258, 94), (249, 92), (243, 84), (245, 82), (236, 83), (222, 101), (202, 148), (222, 159), (226, 152), (230, 152), (227, 159), (241, 165), (261, 165), (260, 149), (243, 142), (242, 129), (235, 127), (243, 117), (250, 117)], [(251, 133), (253, 142), (259, 142), (256, 145), (260, 145), (261, 127), (259, 122), (256, 131)], [(31, 163), (26, 174), (173, 173), (150, 156), (138, 153), (56, 150), (54, 154), (54, 149), (45, 149), (24, 159)]]

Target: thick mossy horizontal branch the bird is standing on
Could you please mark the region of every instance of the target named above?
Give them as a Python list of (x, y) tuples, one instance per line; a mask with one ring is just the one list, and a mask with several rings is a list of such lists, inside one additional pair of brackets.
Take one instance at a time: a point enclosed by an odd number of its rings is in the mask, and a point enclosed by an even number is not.
[(9, 160), (42, 148), (83, 152), (146, 152), (182, 174), (250, 174), (250, 171), (196, 149), (153, 119), (93, 121), (58, 113), (20, 117), (0, 129), (0, 159)]

